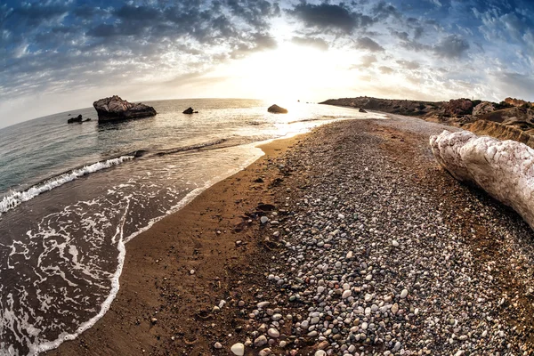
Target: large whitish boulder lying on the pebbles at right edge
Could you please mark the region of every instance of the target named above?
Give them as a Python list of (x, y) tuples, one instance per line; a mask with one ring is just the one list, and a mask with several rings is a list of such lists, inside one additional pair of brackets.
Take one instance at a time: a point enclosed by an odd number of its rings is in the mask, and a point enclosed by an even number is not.
[(534, 150), (468, 131), (430, 138), (434, 158), (460, 182), (472, 183), (511, 206), (534, 229)]

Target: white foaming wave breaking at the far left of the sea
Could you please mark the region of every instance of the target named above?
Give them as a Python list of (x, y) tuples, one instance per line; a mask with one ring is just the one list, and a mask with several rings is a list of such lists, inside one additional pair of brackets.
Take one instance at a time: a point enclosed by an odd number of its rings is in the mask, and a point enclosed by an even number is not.
[(83, 166), (81, 168), (74, 169), (68, 173), (57, 175), (44, 182), (37, 183), (28, 190), (12, 191), (0, 201), (0, 215), (4, 214), (9, 210), (12, 210), (17, 206), (20, 206), (20, 204), (24, 203), (25, 201), (35, 198), (36, 196), (44, 193), (45, 191), (58, 188), (67, 182), (72, 182), (75, 179), (84, 176), (85, 174), (92, 174), (94, 172), (101, 171), (102, 169), (107, 169), (111, 166), (117, 166), (125, 161), (129, 161), (134, 158), (135, 156), (121, 156), (118, 158), (111, 158), (106, 161), (96, 162), (92, 165)]

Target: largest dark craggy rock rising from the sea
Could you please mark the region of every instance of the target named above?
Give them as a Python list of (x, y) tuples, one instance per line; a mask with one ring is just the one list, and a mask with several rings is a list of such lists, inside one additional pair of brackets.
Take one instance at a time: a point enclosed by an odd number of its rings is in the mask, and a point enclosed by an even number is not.
[(156, 109), (142, 103), (132, 103), (122, 100), (117, 95), (93, 102), (98, 113), (99, 122), (125, 120), (130, 118), (153, 117)]

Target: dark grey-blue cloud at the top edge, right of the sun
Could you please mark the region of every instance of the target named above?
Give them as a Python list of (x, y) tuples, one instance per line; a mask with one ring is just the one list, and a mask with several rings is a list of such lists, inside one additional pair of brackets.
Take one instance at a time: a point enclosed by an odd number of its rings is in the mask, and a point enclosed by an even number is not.
[(301, 20), (307, 28), (322, 31), (340, 31), (350, 34), (356, 28), (364, 28), (371, 25), (374, 20), (360, 12), (353, 12), (344, 4), (297, 4), (293, 10), (288, 11), (296, 19)]

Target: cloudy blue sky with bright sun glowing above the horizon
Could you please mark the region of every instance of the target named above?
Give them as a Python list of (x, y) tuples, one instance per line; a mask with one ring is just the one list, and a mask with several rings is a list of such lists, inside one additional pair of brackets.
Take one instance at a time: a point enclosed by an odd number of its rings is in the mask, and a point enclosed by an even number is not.
[(0, 127), (128, 101), (534, 101), (531, 0), (0, 0)]

